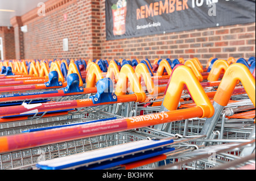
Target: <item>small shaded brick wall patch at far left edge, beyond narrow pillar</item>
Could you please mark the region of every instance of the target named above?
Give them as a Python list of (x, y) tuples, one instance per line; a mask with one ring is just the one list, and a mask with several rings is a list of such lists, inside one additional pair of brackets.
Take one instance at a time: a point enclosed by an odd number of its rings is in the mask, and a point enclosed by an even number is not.
[(0, 37), (3, 40), (3, 57), (5, 60), (15, 58), (14, 28), (0, 27)]

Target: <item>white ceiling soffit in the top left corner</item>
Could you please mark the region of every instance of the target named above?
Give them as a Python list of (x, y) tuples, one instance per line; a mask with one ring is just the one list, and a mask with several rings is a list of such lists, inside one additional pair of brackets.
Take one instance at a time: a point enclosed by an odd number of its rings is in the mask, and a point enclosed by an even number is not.
[(39, 2), (48, 0), (0, 0), (0, 27), (11, 26), (10, 19), (21, 16), (38, 7)]

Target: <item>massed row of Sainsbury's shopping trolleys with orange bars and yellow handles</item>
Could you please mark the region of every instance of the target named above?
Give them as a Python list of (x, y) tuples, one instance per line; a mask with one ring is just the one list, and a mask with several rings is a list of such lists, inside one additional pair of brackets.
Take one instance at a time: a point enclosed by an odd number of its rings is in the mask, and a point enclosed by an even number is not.
[(0, 66), (2, 170), (255, 168), (255, 57)]

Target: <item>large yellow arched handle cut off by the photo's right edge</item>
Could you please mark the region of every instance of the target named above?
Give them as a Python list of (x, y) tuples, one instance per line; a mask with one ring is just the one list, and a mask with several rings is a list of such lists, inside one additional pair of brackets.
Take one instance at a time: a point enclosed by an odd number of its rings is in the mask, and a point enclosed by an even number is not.
[(238, 81), (241, 81), (255, 107), (255, 79), (250, 70), (240, 63), (232, 64), (226, 70), (213, 98), (214, 101), (221, 106), (227, 106)]

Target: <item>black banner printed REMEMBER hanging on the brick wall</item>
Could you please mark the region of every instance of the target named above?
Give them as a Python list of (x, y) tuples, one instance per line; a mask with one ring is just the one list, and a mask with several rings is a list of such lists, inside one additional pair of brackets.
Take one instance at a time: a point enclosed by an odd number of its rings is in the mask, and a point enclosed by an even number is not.
[(255, 22), (255, 0), (106, 0), (106, 39)]

